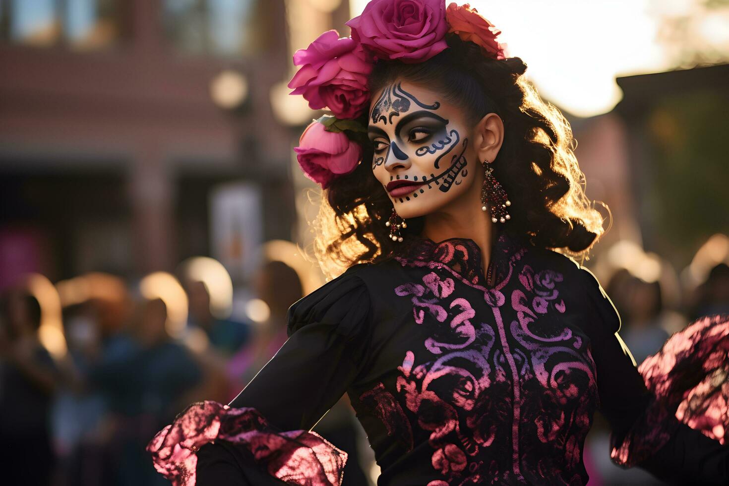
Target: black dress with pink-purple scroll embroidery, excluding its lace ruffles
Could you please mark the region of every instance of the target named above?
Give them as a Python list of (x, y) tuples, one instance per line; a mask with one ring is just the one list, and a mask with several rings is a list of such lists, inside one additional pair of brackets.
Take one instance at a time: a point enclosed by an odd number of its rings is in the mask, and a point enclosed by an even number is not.
[[(230, 406), (308, 430), (347, 392), (380, 486), (586, 484), (593, 412), (620, 444), (652, 399), (594, 275), (506, 232), (488, 282), (472, 240), (403, 248), (292, 305), (289, 340)], [(640, 466), (728, 484), (729, 448), (677, 423), (651, 426), (677, 433)], [(233, 474), (226, 464), (222, 477)]]

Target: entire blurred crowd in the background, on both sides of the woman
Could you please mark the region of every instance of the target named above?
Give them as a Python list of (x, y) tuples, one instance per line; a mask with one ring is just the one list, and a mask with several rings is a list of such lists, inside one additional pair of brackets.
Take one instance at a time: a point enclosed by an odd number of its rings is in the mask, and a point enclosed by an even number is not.
[[(712, 237), (681, 275), (636, 246), (616, 245), (598, 259), (638, 364), (695, 318), (729, 313), (728, 259), (725, 235)], [(195, 264), (217, 280), (190, 271)], [(247, 312), (236, 313), (232, 283), (220, 284), (230, 282), (222, 265), (201, 257), (180, 268), (140, 281), (90, 273), (54, 284), (28, 275), (2, 291), (4, 484), (168, 484), (147, 442), (194, 401), (229, 402), (281, 347), (287, 310), (304, 294), (296, 270), (262, 264), (246, 289)], [(376, 468), (346, 397), (316, 430), (350, 453), (345, 485), (372, 484)], [(650, 483), (611, 466), (606, 444), (607, 427), (596, 420), (585, 452), (590, 484)]]

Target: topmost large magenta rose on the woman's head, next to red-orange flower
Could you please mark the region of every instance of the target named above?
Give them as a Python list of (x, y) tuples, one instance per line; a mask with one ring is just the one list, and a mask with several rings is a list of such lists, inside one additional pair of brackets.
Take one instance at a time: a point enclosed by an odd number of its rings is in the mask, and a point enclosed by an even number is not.
[(352, 39), (384, 59), (421, 63), (448, 47), (444, 0), (372, 0), (347, 25)]

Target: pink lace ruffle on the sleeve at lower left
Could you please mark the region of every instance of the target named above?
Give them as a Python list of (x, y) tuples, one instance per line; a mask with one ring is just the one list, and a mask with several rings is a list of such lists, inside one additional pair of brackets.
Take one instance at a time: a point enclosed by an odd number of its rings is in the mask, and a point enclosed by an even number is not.
[(346, 452), (316, 432), (278, 431), (254, 408), (217, 401), (191, 404), (147, 445), (155, 469), (174, 486), (194, 486), (200, 447), (225, 440), (249, 450), (258, 466), (292, 485), (340, 485)]

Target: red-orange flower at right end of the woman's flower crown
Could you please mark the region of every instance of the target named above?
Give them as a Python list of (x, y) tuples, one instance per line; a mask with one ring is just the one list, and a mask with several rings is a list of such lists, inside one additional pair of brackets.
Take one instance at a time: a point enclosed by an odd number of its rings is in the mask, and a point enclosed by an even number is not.
[(483, 18), (476, 9), (469, 4), (457, 5), (452, 3), (445, 9), (445, 20), (451, 26), (449, 32), (454, 32), (464, 41), (477, 44), (483, 54), (489, 58), (505, 59), (506, 44), (500, 44), (496, 36), (501, 34), (498, 28)]

